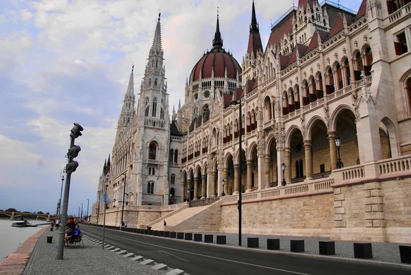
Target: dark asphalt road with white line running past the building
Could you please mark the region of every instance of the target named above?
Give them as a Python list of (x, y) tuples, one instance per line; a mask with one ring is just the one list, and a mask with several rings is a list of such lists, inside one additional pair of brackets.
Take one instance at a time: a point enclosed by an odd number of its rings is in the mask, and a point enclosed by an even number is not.
[[(82, 224), (82, 231), (95, 239), (103, 239), (103, 228)], [(313, 259), (297, 254), (271, 254), (264, 250), (238, 250), (108, 229), (105, 230), (105, 243), (144, 256), (145, 259), (179, 268), (190, 275), (409, 275), (411, 273), (403, 267), (378, 263), (347, 263), (332, 259)]]

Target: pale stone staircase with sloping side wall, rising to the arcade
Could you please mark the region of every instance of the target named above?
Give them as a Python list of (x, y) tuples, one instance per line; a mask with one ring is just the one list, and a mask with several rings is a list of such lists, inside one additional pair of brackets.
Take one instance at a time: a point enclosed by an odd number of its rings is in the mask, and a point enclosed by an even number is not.
[(185, 208), (174, 215), (166, 217), (164, 222), (157, 222), (151, 230), (172, 232), (218, 232), (221, 223), (221, 200), (205, 206)]

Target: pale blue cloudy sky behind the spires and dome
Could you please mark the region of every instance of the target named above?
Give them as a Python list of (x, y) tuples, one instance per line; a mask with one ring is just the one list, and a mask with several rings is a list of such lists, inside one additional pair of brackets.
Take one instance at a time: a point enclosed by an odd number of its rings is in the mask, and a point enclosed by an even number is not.
[[(335, 0), (337, 1), (337, 0)], [(295, 0), (297, 4), (298, 0)], [(265, 45), (292, 0), (256, 0)], [(1, 0), (0, 209), (55, 213), (73, 122), (82, 147), (69, 214), (97, 199), (134, 64), (138, 93), (161, 11), (170, 113), (192, 67), (212, 48), (219, 7), (225, 49), (241, 64), (251, 0)], [(341, 0), (358, 10), (360, 0)], [(137, 96), (137, 95), (136, 95)]]

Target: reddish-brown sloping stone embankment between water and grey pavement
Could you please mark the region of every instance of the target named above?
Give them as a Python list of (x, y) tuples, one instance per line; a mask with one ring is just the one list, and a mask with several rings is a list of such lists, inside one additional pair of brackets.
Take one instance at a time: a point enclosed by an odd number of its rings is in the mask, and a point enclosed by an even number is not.
[(38, 238), (48, 229), (48, 227), (41, 228), (32, 237), (29, 237), (16, 252), (10, 254), (3, 262), (0, 263), (0, 274), (20, 275), (23, 273), (27, 262), (32, 256), (32, 252), (36, 247)]

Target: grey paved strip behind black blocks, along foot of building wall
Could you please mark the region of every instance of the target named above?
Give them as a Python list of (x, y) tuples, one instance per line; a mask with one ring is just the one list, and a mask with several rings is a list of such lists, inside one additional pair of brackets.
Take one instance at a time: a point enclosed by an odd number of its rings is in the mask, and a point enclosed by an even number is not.
[[(216, 243), (216, 235), (225, 235), (227, 240), (227, 246), (238, 247), (238, 234), (229, 233), (206, 233), (214, 235), (214, 243)], [(281, 252), (290, 252), (290, 240), (291, 239), (303, 239), (305, 244), (305, 252), (299, 254), (314, 254), (319, 255), (319, 241), (332, 241), (326, 237), (290, 237), (290, 236), (274, 236), (274, 235), (249, 235), (242, 234), (241, 236), (242, 248), (247, 248), (248, 237), (258, 237), (260, 246), (258, 249), (267, 249), (267, 239), (279, 239), (279, 248)], [(379, 261), (386, 263), (401, 263), (399, 256), (399, 245), (403, 243), (372, 243), (373, 258), (369, 261)], [(403, 244), (410, 246), (409, 244)], [(354, 258), (353, 241), (335, 241), (336, 254), (330, 257), (339, 258)], [(250, 248), (256, 249), (256, 248)]]

